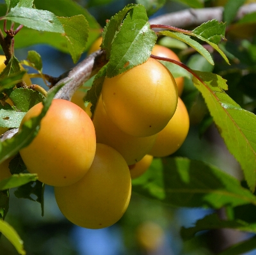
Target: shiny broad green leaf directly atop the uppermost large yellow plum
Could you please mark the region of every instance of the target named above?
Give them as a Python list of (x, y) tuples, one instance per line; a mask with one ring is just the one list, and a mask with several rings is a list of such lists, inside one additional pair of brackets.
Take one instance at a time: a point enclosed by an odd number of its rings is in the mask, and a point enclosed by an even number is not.
[(147, 61), (157, 36), (148, 23), (146, 10), (137, 5), (127, 14), (111, 47), (107, 77), (113, 77)]

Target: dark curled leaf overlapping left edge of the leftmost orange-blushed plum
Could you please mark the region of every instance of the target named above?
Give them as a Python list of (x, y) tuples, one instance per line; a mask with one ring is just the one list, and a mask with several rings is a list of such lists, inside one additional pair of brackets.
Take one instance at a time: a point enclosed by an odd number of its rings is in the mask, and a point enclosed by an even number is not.
[(11, 139), (6, 139), (0, 143), (0, 164), (7, 158), (16, 155), (20, 149), (28, 146), (28, 144), (31, 143), (33, 138), (38, 133), (40, 121), (42, 118), (44, 118), (47, 110), (49, 109), (52, 98), (60, 88), (62, 88), (62, 86), (58, 86), (58, 88), (54, 88), (51, 93), (48, 93), (47, 98), (43, 102), (44, 108), (37, 117), (26, 121), (22, 126), (22, 130), (20, 130), (18, 134), (15, 134)]

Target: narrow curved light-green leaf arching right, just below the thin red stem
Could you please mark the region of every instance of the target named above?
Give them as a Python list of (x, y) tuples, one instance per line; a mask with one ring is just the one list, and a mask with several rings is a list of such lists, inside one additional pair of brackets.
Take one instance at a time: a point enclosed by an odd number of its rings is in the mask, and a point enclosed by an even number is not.
[(196, 51), (198, 51), (200, 54), (202, 54), (202, 56), (204, 56), (211, 65), (214, 65), (211, 54), (200, 43), (191, 39), (190, 36), (184, 35), (184, 34), (178, 33), (178, 32), (171, 32), (171, 31), (160, 31), (160, 32), (158, 32), (158, 34), (169, 36), (169, 37), (175, 38), (177, 40), (180, 40), (184, 43), (187, 43), (189, 46), (193, 47)]

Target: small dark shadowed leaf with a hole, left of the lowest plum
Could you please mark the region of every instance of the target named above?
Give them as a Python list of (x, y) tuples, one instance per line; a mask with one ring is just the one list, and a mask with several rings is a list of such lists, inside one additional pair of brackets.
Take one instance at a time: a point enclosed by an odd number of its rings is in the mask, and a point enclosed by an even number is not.
[[(44, 189), (44, 183), (36, 180), (36, 182), (29, 182), (20, 186), (17, 190), (15, 190), (14, 194), (18, 198), (25, 198), (40, 203), (42, 216), (44, 216)], [(31, 197), (32, 194), (37, 197), (36, 200)]]

